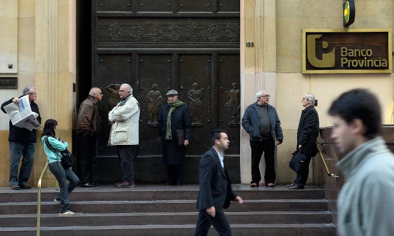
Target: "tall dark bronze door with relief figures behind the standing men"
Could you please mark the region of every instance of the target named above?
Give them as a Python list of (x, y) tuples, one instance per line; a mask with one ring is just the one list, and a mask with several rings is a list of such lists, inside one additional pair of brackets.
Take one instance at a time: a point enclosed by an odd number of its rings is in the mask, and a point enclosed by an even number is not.
[(92, 1), (92, 85), (104, 94), (97, 158), (117, 156), (107, 146), (108, 112), (119, 84), (129, 83), (141, 106), (139, 157), (160, 158), (157, 111), (175, 89), (191, 111), (187, 157), (200, 157), (210, 131), (223, 128), (231, 141), (226, 154), (239, 161), (239, 11), (235, 0)]

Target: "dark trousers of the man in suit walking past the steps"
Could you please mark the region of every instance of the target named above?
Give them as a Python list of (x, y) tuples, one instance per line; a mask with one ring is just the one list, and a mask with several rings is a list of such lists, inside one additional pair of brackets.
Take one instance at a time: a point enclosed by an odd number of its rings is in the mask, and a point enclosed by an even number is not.
[(216, 211), (215, 217), (210, 216), (206, 210), (200, 210), (199, 220), (195, 226), (195, 236), (205, 236), (208, 235), (209, 227), (213, 228), (219, 233), (219, 235), (231, 235), (230, 224), (224, 212)]

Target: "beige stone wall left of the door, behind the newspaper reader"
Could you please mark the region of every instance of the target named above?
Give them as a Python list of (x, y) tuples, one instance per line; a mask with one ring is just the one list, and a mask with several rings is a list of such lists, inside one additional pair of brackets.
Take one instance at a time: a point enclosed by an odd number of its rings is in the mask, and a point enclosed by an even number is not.
[[(18, 97), (27, 85), (34, 85), (37, 88), (36, 103), (40, 109), (42, 125), (47, 119), (56, 119), (58, 136), (71, 144), (75, 103), (73, 83), (76, 75), (75, 0), (0, 0), (0, 6), (0, 22), (6, 22), (3, 26), (5, 29), (14, 27), (14, 22), (17, 22), (17, 34), (12, 36), (14, 38), (0, 37), (0, 45), (12, 46), (17, 42), (17, 71), (15, 74), (1, 73), (0, 77), (18, 79), (18, 88), (2, 89), (0, 100), (3, 103), (12, 97)], [(3, 17), (12, 19), (5, 20)], [(7, 52), (3, 50), (0, 54)], [(2, 112), (0, 186), (8, 186), (8, 120), (7, 114)], [(39, 137), (42, 128), (40, 130), (37, 132), (34, 166), (29, 180), (29, 183), (34, 185), (37, 185), (47, 161)], [(49, 171), (48, 173), (43, 184), (54, 186), (54, 177)]]

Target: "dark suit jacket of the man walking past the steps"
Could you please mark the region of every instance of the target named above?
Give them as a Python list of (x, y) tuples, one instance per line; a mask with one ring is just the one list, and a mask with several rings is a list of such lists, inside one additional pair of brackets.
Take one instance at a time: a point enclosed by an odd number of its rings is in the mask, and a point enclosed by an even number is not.
[(231, 188), (226, 166), (222, 168), (214, 147), (209, 148), (200, 159), (200, 192), (197, 208), (205, 210), (214, 206), (215, 211), (221, 212), (223, 208), (230, 206), (231, 200), (235, 197), (237, 194)]

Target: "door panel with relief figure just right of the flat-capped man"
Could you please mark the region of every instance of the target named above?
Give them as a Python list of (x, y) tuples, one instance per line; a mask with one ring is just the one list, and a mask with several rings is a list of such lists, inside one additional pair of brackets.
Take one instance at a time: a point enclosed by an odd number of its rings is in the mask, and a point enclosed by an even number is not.
[[(188, 104), (191, 116), (191, 141), (187, 151), (201, 155), (212, 130), (211, 57), (209, 55), (179, 55), (179, 98)], [(207, 135), (208, 134), (208, 135)]]

